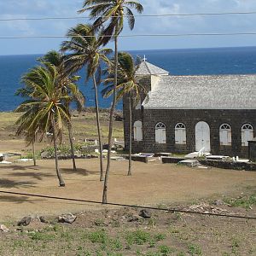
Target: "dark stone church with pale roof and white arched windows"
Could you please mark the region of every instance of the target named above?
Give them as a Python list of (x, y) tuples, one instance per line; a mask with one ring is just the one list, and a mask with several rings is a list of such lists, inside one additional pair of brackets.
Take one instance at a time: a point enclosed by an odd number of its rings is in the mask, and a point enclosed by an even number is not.
[[(205, 152), (246, 157), (256, 129), (256, 75), (174, 76), (143, 61), (147, 93), (132, 108), (133, 153)], [(124, 104), (129, 148), (129, 104)]]

